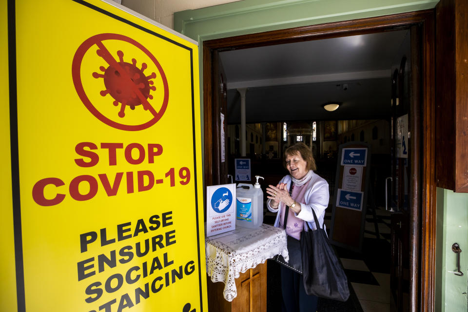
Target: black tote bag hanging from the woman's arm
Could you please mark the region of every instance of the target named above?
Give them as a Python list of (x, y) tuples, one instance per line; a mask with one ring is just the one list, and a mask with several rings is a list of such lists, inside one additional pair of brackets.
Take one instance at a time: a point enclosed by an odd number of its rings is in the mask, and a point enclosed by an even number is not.
[(317, 230), (302, 231), (300, 240), (304, 288), (310, 295), (346, 301), (350, 296), (348, 278), (313, 209), (312, 213)]

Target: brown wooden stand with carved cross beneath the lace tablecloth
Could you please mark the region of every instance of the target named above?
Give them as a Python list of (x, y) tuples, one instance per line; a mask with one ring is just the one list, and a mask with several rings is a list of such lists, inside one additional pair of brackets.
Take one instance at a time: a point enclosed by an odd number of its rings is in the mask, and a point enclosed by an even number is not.
[(266, 312), (267, 261), (241, 273), (235, 279), (237, 296), (232, 302), (224, 299), (224, 283), (213, 283), (207, 276), (209, 312)]

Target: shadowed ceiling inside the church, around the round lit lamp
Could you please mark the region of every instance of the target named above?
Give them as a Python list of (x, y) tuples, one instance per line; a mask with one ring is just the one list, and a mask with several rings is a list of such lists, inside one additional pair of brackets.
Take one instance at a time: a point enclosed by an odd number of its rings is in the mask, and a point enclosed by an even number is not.
[[(392, 66), (404, 54), (409, 30), (221, 52), (228, 122), (240, 122), (237, 88), (248, 88), (247, 122), (384, 118)], [(326, 112), (328, 101), (343, 105)]]

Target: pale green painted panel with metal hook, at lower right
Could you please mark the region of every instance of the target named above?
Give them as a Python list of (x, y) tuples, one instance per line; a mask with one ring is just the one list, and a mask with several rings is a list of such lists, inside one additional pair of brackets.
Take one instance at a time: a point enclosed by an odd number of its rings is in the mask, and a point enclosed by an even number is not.
[[(437, 188), (437, 247), (436, 247), (436, 310), (458, 312), (468, 310), (468, 195)], [(460, 271), (452, 244), (458, 243)]]

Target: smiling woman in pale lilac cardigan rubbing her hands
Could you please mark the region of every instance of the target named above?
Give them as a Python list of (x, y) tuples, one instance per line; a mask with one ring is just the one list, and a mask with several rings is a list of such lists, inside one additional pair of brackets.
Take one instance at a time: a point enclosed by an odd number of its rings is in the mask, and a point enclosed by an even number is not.
[[(312, 210), (323, 226), (325, 209), (328, 206), (328, 183), (313, 172), (316, 170), (312, 151), (304, 143), (297, 143), (284, 152), (284, 166), (290, 175), (284, 176), (276, 186), (267, 188), (267, 208), (277, 213), (275, 227), (284, 227), (286, 205), (289, 213), (286, 234), (300, 240), (304, 222), (315, 230)], [(291, 190), (291, 193), (290, 193)], [(283, 312), (315, 312), (317, 297), (308, 295), (304, 289), (302, 275), (281, 266), (281, 291)]]

